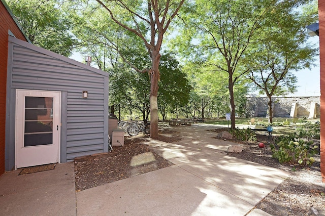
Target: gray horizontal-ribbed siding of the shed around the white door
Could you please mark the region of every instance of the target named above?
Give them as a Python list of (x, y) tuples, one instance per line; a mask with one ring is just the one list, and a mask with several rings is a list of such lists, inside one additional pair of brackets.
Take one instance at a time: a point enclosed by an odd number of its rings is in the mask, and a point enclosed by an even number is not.
[[(67, 121), (67, 143), (61, 144), (67, 148), (66, 160), (105, 150), (105, 85), (102, 74), (14, 45), (12, 89), (67, 92), (67, 117), (62, 118)], [(87, 99), (82, 91), (88, 91)]]

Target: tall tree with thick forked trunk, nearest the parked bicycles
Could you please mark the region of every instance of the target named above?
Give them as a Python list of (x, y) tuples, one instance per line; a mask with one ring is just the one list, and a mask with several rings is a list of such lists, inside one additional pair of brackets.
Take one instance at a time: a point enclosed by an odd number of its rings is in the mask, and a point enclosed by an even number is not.
[(172, 20), (177, 15), (184, 3), (180, 1), (129, 1), (96, 0), (105, 8), (110, 18), (122, 28), (132, 32), (139, 37), (151, 59), (151, 68), (134, 69), (141, 73), (148, 73), (150, 76), (150, 120), (151, 135), (155, 139), (158, 137), (158, 80), (160, 49), (163, 44), (164, 34), (170, 26)]

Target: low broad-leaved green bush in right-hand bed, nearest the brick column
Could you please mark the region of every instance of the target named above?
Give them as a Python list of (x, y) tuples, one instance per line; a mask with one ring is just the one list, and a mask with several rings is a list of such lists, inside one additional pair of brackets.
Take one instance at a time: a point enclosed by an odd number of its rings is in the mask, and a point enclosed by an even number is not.
[(312, 157), (317, 153), (317, 146), (313, 141), (305, 141), (296, 134), (280, 136), (276, 144), (271, 144), (272, 157), (283, 164), (294, 164), (310, 166), (315, 159)]

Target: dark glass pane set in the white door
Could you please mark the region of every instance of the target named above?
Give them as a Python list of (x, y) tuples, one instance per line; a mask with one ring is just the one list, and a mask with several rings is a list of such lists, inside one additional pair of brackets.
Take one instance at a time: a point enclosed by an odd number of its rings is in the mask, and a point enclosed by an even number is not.
[(25, 97), (24, 146), (52, 144), (53, 98)]

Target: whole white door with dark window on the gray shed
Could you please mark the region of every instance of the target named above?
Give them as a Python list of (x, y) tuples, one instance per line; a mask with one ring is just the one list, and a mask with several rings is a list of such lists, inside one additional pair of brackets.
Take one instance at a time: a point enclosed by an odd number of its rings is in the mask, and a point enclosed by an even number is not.
[(16, 90), (16, 169), (59, 162), (60, 98), (60, 92)]

